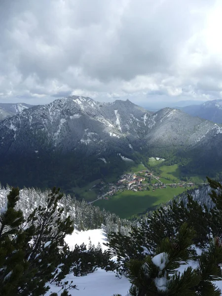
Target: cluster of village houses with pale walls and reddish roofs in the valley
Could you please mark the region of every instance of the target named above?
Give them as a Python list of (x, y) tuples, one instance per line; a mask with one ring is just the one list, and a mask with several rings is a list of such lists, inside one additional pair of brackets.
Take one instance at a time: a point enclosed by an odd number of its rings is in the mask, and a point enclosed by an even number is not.
[[(192, 182), (184, 182), (181, 181), (181, 183), (169, 183), (164, 184), (161, 182), (161, 177), (154, 176), (153, 173), (150, 171), (142, 170), (137, 173), (128, 173), (120, 176), (120, 179), (117, 181), (116, 184), (109, 183), (106, 185), (104, 182), (101, 182), (100, 184), (94, 185), (93, 187), (96, 189), (100, 189), (100, 194), (97, 196), (97, 199), (90, 202), (93, 203), (99, 199), (105, 199), (108, 200), (111, 196), (117, 194), (119, 191), (124, 190), (132, 190), (132, 191), (144, 191), (144, 190), (152, 190), (155, 191), (156, 189), (164, 189), (167, 188), (167, 186), (170, 187), (192, 187), (194, 186), (194, 183)], [(91, 190), (93, 190), (91, 188)], [(103, 193), (102, 193), (103, 192)]]

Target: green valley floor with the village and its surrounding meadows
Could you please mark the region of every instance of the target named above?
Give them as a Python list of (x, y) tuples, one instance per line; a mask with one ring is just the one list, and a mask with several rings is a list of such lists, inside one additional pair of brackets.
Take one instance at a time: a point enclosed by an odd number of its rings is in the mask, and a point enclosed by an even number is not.
[(142, 163), (133, 165), (115, 182), (96, 180), (76, 188), (75, 192), (101, 209), (130, 219), (166, 203), (187, 189), (204, 184), (203, 176), (181, 178), (181, 175), (178, 164), (165, 165), (165, 159), (151, 157), (148, 168)]

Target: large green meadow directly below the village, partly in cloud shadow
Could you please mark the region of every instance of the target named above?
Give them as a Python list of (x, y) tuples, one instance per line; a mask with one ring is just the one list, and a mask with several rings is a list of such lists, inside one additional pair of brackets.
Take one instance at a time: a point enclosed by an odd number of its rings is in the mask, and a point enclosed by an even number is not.
[(174, 195), (184, 192), (186, 189), (177, 187), (167, 187), (156, 189), (155, 191), (146, 190), (134, 192), (125, 190), (112, 196), (109, 200), (98, 200), (94, 203), (101, 209), (115, 213), (120, 218), (129, 219), (131, 216), (143, 213), (148, 208), (165, 203), (172, 199)]

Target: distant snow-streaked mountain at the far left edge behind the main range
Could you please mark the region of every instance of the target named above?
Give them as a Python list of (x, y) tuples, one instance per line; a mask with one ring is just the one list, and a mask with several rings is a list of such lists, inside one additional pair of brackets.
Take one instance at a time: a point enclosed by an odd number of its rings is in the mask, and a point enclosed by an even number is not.
[(31, 107), (33, 107), (33, 105), (25, 103), (0, 103), (0, 120), (14, 116), (15, 114), (23, 111), (24, 109), (28, 109)]

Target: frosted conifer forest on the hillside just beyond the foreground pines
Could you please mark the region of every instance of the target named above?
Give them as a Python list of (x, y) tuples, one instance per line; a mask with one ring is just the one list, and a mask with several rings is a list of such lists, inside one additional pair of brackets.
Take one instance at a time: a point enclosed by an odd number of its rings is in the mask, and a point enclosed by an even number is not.
[[(5, 204), (10, 190), (10, 186), (0, 188), (0, 208)], [(20, 190), (16, 209), (21, 210), (24, 218), (27, 219), (35, 208), (46, 206), (49, 193), (49, 189), (41, 191), (40, 189), (23, 188)], [(64, 208), (62, 217), (70, 215), (77, 230), (97, 229), (103, 225), (107, 233), (120, 231), (126, 234), (132, 225), (132, 222), (128, 220), (119, 219), (115, 214), (101, 211), (100, 208), (85, 201), (78, 201), (70, 195), (63, 195), (60, 205)]]

